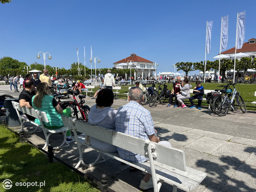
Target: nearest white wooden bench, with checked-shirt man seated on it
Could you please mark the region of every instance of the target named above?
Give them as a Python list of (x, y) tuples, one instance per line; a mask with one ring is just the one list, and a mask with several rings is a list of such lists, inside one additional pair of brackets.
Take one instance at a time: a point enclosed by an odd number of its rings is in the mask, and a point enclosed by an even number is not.
[[(150, 140), (143, 140), (138, 137), (109, 130), (100, 126), (90, 125), (89, 123), (68, 118), (66, 116), (61, 117), (64, 125), (72, 128), (74, 138), (77, 142), (79, 161), (76, 168), (78, 168), (81, 163), (85, 167), (91, 167), (102, 163), (105, 161), (102, 154), (105, 154), (127, 165), (131, 165), (146, 173), (152, 174), (155, 192), (159, 191), (164, 180), (173, 185), (173, 192), (177, 191), (177, 187), (191, 191), (207, 176), (204, 172), (186, 166), (185, 152), (182, 150), (154, 143)], [(86, 146), (90, 148), (93, 147), (85, 144), (83, 140), (79, 139), (77, 131), (106, 143), (111, 143), (114, 146), (129, 150), (133, 153), (145, 156), (150, 160), (144, 163), (135, 163), (120, 158), (118, 152), (105, 153), (97, 150), (99, 151), (97, 160), (91, 164), (85, 164), (83, 161), (83, 151)], [(88, 161), (88, 159), (86, 159), (86, 161)], [(156, 177), (160, 179), (158, 184)]]

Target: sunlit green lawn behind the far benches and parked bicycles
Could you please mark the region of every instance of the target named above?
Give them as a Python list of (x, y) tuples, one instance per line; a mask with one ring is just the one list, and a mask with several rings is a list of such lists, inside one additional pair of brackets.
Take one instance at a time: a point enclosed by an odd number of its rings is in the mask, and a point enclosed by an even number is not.
[[(190, 84), (192, 85), (192, 88), (196, 87), (196, 83), (190, 83)], [(207, 89), (207, 90), (221, 89), (220, 87), (217, 87), (217, 86), (226, 85), (226, 84), (227, 83), (201, 83), (201, 85), (204, 87), (204, 89)], [(168, 83), (167, 85), (168, 85), (167, 88), (169, 90), (172, 90), (172, 83)], [(151, 84), (147, 85), (147, 87), (150, 87), (150, 86), (152, 86), (152, 85)], [(122, 86), (122, 89), (118, 90), (118, 92), (120, 92), (118, 94), (120, 96), (118, 96), (118, 97), (121, 99), (127, 99), (127, 95), (125, 95), (123, 93), (128, 93), (129, 87), (131, 87), (131, 85), (130, 86), (129, 85)], [(256, 91), (256, 84), (241, 83), (241, 84), (236, 84), (235, 87), (236, 87), (237, 91), (240, 92), (240, 94), (242, 95), (243, 100), (246, 103), (246, 106), (248, 106), (247, 110), (256, 111), (256, 108), (250, 107), (250, 106), (253, 106), (253, 107), (256, 106), (255, 104), (251, 103), (253, 101), (256, 101), (256, 97), (254, 96), (254, 92)], [(93, 91), (97, 91), (98, 89), (99, 89), (99, 87), (94, 88)], [(114, 90), (114, 87), (113, 87), (113, 90)], [(92, 93), (92, 94), (94, 94), (94, 93)], [(190, 94), (190, 95), (192, 96), (193, 94)], [(203, 102), (206, 102), (206, 101), (203, 101)], [(202, 103), (202, 105), (208, 106), (207, 103)]]

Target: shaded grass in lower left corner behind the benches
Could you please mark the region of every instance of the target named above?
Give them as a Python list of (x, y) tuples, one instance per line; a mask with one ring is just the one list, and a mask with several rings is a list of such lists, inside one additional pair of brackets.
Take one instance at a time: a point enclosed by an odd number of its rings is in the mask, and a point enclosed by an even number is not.
[[(72, 172), (65, 165), (55, 162), (50, 164), (48, 158), (37, 148), (24, 142), (19, 137), (0, 125), (0, 191), (91, 191), (98, 186), (88, 182), (81, 175)], [(12, 181), (12, 188), (4, 189), (5, 179)], [(45, 186), (15, 186), (16, 182), (45, 181)]]

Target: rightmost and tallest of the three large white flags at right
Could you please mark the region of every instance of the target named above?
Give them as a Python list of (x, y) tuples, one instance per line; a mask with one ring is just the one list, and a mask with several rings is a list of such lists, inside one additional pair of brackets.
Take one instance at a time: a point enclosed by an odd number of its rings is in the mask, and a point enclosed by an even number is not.
[(237, 19), (237, 47), (236, 49), (241, 49), (243, 46), (245, 34), (245, 11), (238, 13)]

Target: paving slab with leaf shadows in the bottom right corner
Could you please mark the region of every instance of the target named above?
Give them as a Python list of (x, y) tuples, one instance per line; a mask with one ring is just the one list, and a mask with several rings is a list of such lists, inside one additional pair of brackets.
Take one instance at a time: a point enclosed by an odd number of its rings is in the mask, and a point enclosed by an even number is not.
[(241, 165), (222, 187), (221, 191), (256, 191), (256, 167)]

